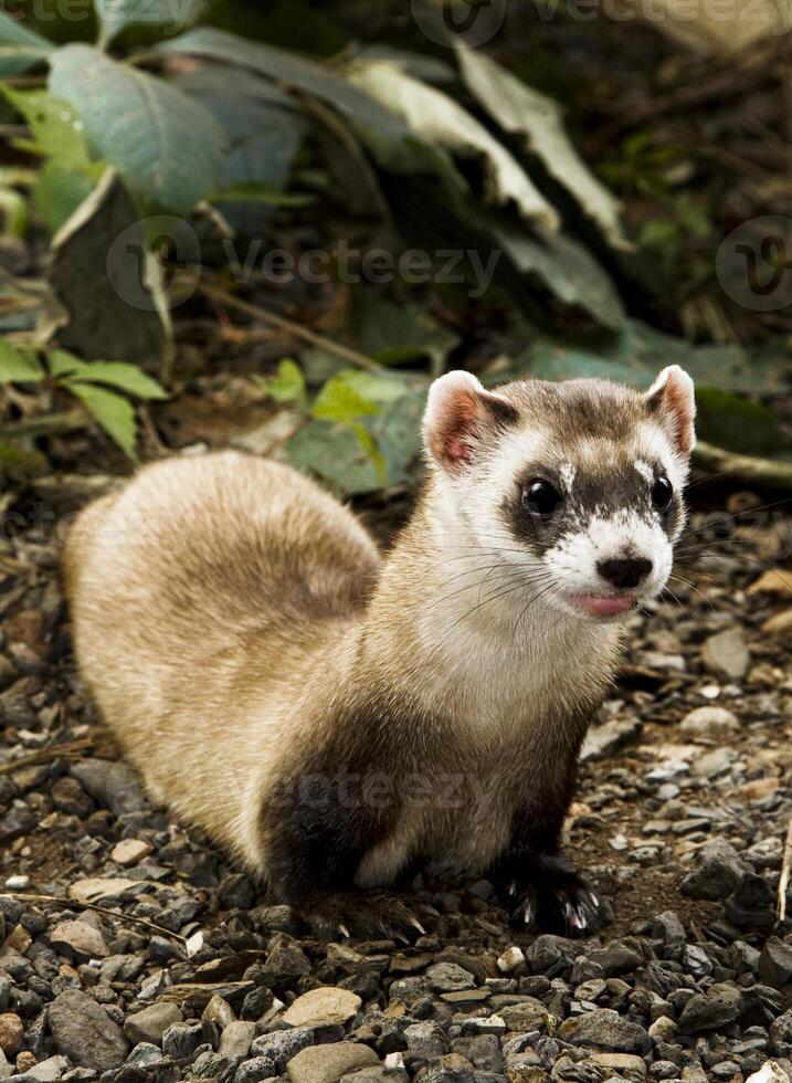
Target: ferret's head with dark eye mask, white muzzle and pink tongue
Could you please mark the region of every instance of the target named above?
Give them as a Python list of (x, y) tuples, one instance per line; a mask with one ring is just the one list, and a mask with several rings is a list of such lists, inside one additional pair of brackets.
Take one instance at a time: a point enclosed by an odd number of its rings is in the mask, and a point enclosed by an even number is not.
[(682, 530), (695, 442), (678, 366), (641, 393), (605, 380), (485, 390), (469, 372), (432, 385), (424, 417), (437, 522), (456, 554), (497, 565), (525, 595), (613, 620), (656, 596)]

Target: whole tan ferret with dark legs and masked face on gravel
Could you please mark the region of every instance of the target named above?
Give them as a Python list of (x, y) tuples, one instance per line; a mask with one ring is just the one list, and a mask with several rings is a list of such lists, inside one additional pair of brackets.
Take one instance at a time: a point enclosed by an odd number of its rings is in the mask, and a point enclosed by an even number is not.
[(448, 372), (387, 557), (286, 465), (145, 466), (64, 555), (104, 722), (156, 801), (324, 935), (421, 927), (383, 892), (421, 866), (594, 932), (562, 826), (622, 627), (672, 568), (694, 413), (678, 366), (644, 393)]

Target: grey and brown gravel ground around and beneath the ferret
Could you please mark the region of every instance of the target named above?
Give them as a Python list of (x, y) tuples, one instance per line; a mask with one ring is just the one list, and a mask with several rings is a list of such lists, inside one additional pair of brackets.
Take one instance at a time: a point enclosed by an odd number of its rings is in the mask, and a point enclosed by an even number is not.
[(604, 933), (531, 937), (489, 883), (418, 880), (440, 916), (410, 945), (300, 938), (151, 807), (75, 677), (55, 547), (0, 544), (0, 1079), (792, 1075), (792, 578), (756, 564), (783, 533), (691, 536), (633, 621), (569, 824)]

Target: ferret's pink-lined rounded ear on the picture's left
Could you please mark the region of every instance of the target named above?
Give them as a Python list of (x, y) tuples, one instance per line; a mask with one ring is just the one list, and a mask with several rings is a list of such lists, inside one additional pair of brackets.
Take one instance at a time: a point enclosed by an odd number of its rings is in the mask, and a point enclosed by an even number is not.
[(434, 463), (456, 474), (518, 418), (507, 398), (485, 390), (471, 372), (446, 372), (429, 389), (423, 442)]

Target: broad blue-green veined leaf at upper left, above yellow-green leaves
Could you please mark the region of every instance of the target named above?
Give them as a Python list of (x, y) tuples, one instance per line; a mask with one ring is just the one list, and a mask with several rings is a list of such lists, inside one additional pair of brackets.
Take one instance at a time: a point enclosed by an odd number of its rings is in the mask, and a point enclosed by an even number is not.
[(145, 203), (187, 213), (217, 190), (223, 132), (175, 86), (72, 44), (52, 56), (50, 90), (80, 111), (94, 153), (112, 161)]

